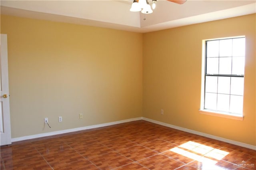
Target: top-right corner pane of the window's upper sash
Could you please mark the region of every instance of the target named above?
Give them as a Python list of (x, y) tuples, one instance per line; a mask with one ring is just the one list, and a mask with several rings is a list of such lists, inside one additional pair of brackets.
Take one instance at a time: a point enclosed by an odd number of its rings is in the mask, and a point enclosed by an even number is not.
[(245, 38), (233, 39), (233, 57), (245, 55)]

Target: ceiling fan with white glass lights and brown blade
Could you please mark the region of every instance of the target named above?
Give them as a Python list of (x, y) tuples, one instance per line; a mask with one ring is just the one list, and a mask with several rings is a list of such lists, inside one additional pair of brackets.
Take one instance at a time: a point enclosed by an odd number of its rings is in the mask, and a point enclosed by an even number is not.
[[(168, 0), (170, 2), (174, 2), (176, 4), (184, 4), (187, 0)], [(157, 0), (152, 0), (152, 9), (156, 8)], [(153, 10), (151, 9), (148, 0), (133, 0), (132, 7), (130, 11), (138, 12), (141, 11), (143, 14), (151, 14)]]

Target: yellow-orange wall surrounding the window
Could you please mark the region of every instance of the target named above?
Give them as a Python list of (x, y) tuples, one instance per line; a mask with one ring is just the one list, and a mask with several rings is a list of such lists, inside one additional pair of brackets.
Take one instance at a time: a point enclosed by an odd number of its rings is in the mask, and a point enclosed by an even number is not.
[[(252, 14), (144, 34), (143, 117), (256, 145), (255, 22)], [(198, 112), (202, 40), (231, 36), (246, 36), (243, 121)]]

